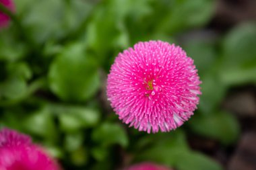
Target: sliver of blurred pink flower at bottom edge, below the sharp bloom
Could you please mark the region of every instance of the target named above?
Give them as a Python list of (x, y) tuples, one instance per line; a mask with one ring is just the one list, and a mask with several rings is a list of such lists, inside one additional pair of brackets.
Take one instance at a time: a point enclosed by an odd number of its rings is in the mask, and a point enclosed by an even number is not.
[(162, 165), (156, 165), (154, 163), (139, 163), (137, 165), (133, 165), (128, 167), (125, 170), (171, 170), (168, 167), (164, 167)]

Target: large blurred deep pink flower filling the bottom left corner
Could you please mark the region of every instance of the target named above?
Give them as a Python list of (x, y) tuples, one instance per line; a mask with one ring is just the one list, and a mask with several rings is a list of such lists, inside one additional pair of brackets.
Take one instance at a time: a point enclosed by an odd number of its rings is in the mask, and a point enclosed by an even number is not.
[(59, 166), (29, 136), (14, 130), (0, 131), (1, 170), (57, 170)]

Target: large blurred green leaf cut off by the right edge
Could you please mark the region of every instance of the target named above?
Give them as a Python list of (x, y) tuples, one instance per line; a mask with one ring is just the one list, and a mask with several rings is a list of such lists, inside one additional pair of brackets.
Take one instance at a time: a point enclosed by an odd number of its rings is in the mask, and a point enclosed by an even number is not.
[(241, 24), (223, 42), (220, 78), (226, 85), (256, 82), (256, 24)]

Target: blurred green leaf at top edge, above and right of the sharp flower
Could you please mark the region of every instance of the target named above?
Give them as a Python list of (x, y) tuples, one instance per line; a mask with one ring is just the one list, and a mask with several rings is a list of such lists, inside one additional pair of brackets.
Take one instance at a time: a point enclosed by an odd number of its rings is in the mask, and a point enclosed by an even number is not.
[(168, 1), (170, 9), (160, 18), (158, 32), (181, 32), (188, 28), (198, 28), (210, 21), (214, 14), (212, 0)]

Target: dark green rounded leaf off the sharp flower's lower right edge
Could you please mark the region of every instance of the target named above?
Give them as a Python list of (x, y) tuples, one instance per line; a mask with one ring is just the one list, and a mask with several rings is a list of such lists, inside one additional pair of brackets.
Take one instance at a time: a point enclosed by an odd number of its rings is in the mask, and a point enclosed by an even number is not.
[(223, 144), (236, 142), (240, 132), (236, 118), (226, 112), (195, 115), (189, 122), (189, 126), (197, 134), (214, 138)]

